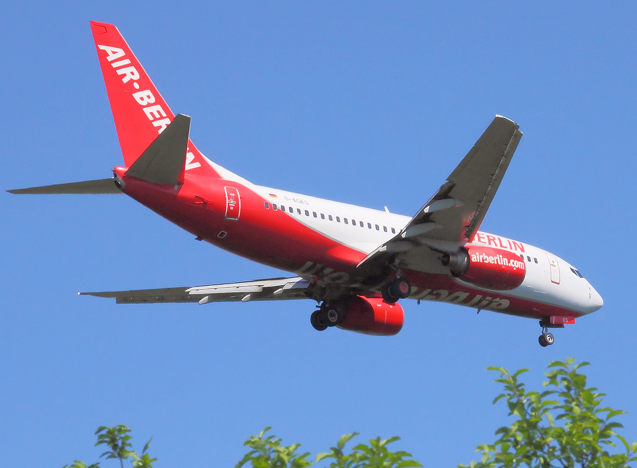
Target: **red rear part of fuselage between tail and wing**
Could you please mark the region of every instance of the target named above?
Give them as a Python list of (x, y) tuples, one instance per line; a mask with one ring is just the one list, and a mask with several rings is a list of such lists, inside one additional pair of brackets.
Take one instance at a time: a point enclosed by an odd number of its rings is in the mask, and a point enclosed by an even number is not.
[[(366, 255), (327, 238), (281, 210), (266, 209), (261, 195), (235, 181), (188, 174), (185, 183), (175, 190), (122, 178), (126, 194), (155, 213), (213, 245), (255, 262), (287, 271), (296, 271), (307, 262), (350, 271)], [(224, 187), (238, 189), (239, 220), (225, 219)]]

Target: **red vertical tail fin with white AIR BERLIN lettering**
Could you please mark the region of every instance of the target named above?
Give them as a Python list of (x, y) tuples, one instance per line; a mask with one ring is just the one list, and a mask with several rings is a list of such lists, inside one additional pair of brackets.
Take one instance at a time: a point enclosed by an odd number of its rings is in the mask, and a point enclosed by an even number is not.
[[(150, 81), (117, 27), (95, 21), (90, 22), (90, 27), (122, 147), (124, 164), (130, 167), (175, 115)], [(220, 177), (190, 139), (185, 171)]]

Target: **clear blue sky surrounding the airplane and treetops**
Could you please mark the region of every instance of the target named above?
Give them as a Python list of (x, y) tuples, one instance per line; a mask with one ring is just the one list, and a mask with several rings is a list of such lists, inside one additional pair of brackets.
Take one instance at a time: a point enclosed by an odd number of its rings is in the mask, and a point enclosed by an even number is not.
[[(9, 3), (0, 23), (3, 189), (109, 177), (121, 164), (89, 20), (111, 22), (192, 139), (254, 183), (412, 215), (496, 113), (524, 137), (482, 229), (579, 267), (603, 309), (555, 332), (403, 303), (396, 337), (315, 332), (310, 301), (117, 306), (78, 291), (282, 274), (132, 199), (0, 194), (4, 466), (96, 460), (98, 425), (150, 436), (157, 467), (231, 467), (272, 425), (313, 453), (399, 435), (429, 467), (476, 457), (506, 423), (489, 365), (590, 360), (635, 399), (637, 7), (496, 2)], [(104, 464), (108, 466), (108, 464)]]

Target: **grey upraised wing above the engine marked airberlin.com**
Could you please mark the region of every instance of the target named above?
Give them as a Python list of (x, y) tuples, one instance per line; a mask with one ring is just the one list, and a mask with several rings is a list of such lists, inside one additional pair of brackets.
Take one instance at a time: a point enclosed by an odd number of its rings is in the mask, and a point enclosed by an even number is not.
[(419, 271), (443, 273), (436, 271), (441, 269), (437, 257), (457, 250), (476, 234), (520, 138), (519, 125), (496, 115), (447, 182), (404, 229), (362, 260), (361, 273), (373, 274), (391, 260), (402, 260)]

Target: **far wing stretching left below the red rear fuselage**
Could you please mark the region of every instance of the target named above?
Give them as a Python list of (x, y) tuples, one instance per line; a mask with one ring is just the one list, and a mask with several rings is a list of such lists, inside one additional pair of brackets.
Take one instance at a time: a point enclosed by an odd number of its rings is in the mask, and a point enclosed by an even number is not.
[(184, 288), (138, 289), (132, 291), (80, 292), (80, 295), (114, 297), (117, 304), (143, 304), (157, 302), (232, 302), (308, 299), (305, 295), (308, 281), (294, 278), (271, 278), (223, 285)]

